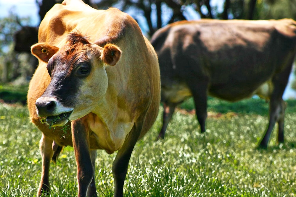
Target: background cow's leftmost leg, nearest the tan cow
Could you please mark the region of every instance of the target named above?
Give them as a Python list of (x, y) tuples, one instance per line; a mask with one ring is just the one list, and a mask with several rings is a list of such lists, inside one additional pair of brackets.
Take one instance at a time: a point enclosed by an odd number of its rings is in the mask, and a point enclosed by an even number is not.
[(175, 111), (176, 104), (175, 103), (163, 103), (163, 126), (160, 129), (160, 132), (158, 134), (157, 140), (164, 139), (165, 138), (165, 131), (168, 127), (168, 123), (173, 117), (173, 113)]

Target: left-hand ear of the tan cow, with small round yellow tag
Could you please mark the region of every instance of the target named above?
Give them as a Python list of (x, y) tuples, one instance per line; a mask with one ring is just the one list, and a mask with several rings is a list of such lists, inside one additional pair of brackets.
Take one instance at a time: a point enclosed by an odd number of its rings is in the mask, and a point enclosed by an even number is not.
[(32, 54), (46, 63), (57, 51), (59, 51), (58, 47), (45, 43), (37, 43), (31, 46)]

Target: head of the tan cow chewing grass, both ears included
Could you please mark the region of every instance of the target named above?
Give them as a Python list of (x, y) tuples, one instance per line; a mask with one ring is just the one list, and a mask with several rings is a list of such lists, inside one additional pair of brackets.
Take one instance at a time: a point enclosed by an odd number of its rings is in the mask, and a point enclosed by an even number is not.
[(38, 116), (46, 117), (50, 126), (65, 125), (98, 106), (108, 86), (105, 67), (114, 66), (121, 55), (116, 45), (101, 47), (79, 32), (70, 33), (61, 48), (37, 43), (31, 51), (47, 63), (51, 77), (49, 86), (36, 100)]

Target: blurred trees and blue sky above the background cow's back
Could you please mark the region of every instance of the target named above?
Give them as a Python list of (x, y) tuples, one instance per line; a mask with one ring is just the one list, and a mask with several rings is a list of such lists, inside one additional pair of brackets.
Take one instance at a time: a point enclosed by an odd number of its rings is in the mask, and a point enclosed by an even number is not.
[[(147, 27), (151, 36), (157, 29), (191, 15), (212, 19), (296, 19), (296, 0), (94, 0), (93, 7), (118, 7)], [(215, 1), (221, 3), (221, 1)], [(190, 10), (190, 12), (189, 12)], [(196, 19), (196, 18), (195, 18)], [(144, 23), (144, 24), (142, 24)]]

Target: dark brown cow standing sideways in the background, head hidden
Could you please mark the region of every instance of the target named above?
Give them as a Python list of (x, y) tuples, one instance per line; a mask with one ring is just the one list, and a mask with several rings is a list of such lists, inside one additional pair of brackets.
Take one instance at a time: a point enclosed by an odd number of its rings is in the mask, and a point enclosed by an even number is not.
[(151, 43), (161, 76), (163, 127), (176, 105), (193, 96), (205, 132), (207, 95), (237, 101), (254, 94), (270, 100), (269, 125), (259, 147), (266, 148), (275, 123), (284, 142), (282, 100), (296, 53), (296, 22), (282, 20), (182, 21), (155, 32)]

